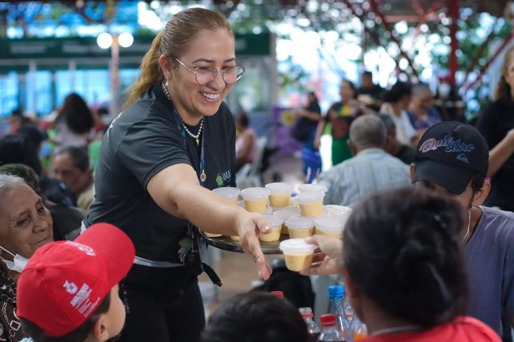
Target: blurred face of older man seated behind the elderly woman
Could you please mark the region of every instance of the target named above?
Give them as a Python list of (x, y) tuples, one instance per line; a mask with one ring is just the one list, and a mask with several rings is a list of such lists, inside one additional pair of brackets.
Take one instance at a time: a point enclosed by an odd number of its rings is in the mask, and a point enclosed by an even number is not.
[(91, 171), (81, 171), (76, 167), (70, 155), (63, 153), (53, 159), (53, 173), (56, 178), (69, 186), (72, 192), (80, 194), (90, 182)]

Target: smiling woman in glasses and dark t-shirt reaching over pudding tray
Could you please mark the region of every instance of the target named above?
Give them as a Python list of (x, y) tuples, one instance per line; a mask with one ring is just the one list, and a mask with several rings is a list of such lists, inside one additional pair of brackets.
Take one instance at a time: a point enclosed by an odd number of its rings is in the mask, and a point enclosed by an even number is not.
[(271, 232), (264, 217), (210, 191), (235, 186), (235, 125), (223, 100), (243, 73), (223, 16), (179, 12), (154, 39), (105, 134), (84, 224), (114, 224), (136, 247), (122, 341), (199, 340), (197, 275), (206, 260), (196, 227), (240, 236), (259, 274), (271, 273), (259, 244), (259, 233)]

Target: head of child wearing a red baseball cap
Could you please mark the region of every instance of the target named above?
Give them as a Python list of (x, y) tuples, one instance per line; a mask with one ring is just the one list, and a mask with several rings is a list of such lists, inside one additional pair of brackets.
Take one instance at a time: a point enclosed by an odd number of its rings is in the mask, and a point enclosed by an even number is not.
[(132, 241), (111, 224), (75, 241), (49, 243), (30, 258), (17, 284), (16, 314), (35, 342), (105, 341), (121, 332), (118, 291), (134, 262)]

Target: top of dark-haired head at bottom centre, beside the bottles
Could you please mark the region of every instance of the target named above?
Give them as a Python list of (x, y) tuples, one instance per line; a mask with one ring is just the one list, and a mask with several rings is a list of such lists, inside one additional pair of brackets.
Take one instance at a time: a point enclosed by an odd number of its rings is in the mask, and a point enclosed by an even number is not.
[(307, 327), (287, 300), (265, 292), (228, 299), (209, 319), (204, 342), (305, 342)]

